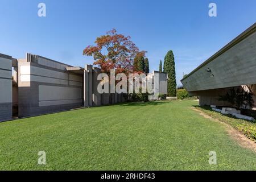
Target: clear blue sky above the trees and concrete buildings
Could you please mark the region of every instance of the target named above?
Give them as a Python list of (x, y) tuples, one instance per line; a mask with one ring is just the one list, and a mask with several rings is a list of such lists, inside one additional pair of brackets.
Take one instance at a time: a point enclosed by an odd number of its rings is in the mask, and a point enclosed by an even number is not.
[[(38, 3), (47, 7), (38, 16)], [(208, 5), (217, 4), (217, 17)], [(82, 50), (116, 28), (147, 51), (150, 70), (172, 49), (177, 84), (220, 48), (256, 22), (255, 0), (1, 0), (0, 53), (15, 58), (34, 53), (74, 66), (92, 64)]]

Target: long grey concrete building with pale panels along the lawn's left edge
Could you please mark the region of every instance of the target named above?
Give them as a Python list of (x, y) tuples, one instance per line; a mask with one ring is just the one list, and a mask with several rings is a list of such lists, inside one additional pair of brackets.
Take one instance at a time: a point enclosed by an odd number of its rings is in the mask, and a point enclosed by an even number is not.
[[(26, 59), (0, 54), (0, 121), (109, 104), (108, 94), (97, 92), (98, 74), (92, 65), (72, 67), (31, 53)], [(114, 95), (112, 103), (125, 101)]]

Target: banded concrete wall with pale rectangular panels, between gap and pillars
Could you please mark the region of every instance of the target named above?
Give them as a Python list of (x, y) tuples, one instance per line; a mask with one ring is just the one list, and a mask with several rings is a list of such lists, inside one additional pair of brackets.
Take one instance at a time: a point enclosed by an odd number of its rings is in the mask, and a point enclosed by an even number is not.
[(69, 73), (69, 65), (30, 54), (18, 64), (19, 117), (83, 105), (83, 76)]

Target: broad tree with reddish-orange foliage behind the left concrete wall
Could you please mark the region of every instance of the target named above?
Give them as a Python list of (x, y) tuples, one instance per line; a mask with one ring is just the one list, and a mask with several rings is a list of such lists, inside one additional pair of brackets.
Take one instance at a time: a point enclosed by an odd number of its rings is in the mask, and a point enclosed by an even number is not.
[[(146, 51), (139, 51), (139, 48), (131, 42), (130, 36), (117, 34), (115, 29), (106, 32), (96, 38), (96, 46), (87, 46), (83, 55), (93, 56), (94, 65), (100, 67), (102, 73), (110, 78), (110, 69), (115, 69), (115, 74), (133, 73), (134, 58), (138, 55), (144, 56)], [(112, 102), (112, 94), (109, 102)]]

